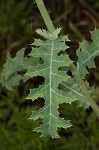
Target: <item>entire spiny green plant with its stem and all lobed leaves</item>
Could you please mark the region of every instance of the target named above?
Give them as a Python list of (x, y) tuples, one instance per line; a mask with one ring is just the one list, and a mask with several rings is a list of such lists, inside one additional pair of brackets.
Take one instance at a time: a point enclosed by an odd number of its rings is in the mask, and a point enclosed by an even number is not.
[[(54, 25), (48, 15), (42, 0), (35, 0), (46, 23), (48, 31), (37, 29), (36, 32), (43, 39), (35, 39), (31, 44), (31, 52), (25, 55), (25, 49), (20, 50), (15, 58), (8, 56), (6, 64), (1, 74), (1, 83), (7, 89), (12, 90), (19, 84), (20, 80), (26, 82), (35, 76), (42, 76), (45, 79), (43, 85), (37, 89), (31, 89), (27, 99), (35, 100), (38, 97), (45, 99), (44, 107), (33, 111), (30, 119), (41, 118), (43, 124), (36, 128), (37, 132), (42, 132), (42, 136), (57, 138), (58, 128), (69, 128), (71, 123), (59, 117), (59, 104), (78, 102), (78, 106), (85, 109), (91, 106), (99, 116), (99, 107), (94, 102), (94, 88), (90, 87), (85, 80), (87, 67), (95, 67), (94, 58), (99, 54), (99, 30), (91, 32), (92, 42), (85, 40), (80, 43), (77, 52), (78, 61), (76, 66), (64, 53), (68, 46), (68, 36), (59, 36), (60, 28)], [(80, 51), (81, 49), (81, 51)], [(37, 60), (37, 61), (36, 61)], [(87, 67), (86, 67), (87, 66)], [(71, 71), (72, 77), (68, 75)], [(20, 71), (25, 71), (24, 75)]]

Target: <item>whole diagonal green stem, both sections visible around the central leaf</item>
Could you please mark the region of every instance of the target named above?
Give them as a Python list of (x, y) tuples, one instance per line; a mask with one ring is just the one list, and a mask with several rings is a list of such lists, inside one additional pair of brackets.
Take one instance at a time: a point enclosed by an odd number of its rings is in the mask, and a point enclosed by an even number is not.
[[(48, 11), (44, 5), (44, 2), (43, 0), (35, 0), (38, 8), (39, 8), (39, 11), (43, 17), (43, 20), (49, 30), (50, 33), (54, 32), (55, 30), (55, 27), (51, 21), (51, 18), (48, 14)], [(99, 107), (98, 105), (94, 102), (93, 98), (91, 97), (91, 95), (88, 93), (88, 90), (85, 86), (85, 83), (84, 81), (81, 79), (79, 73), (77, 72), (77, 68), (75, 67), (74, 64), (72, 64), (70, 66), (70, 70), (72, 71), (72, 73), (74, 74), (74, 77), (78, 83), (78, 85), (81, 87), (82, 89), (82, 94), (87, 98), (88, 102), (90, 103), (91, 107), (93, 108), (93, 110), (96, 112), (97, 116), (99, 117)]]

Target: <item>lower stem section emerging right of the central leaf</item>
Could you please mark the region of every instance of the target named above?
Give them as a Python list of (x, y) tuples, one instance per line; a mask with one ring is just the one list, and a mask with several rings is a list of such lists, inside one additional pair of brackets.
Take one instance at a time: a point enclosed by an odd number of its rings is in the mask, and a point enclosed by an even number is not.
[(82, 94), (87, 98), (87, 101), (89, 102), (90, 106), (93, 108), (93, 110), (96, 112), (97, 116), (99, 117), (99, 106), (94, 102), (93, 98), (88, 93), (86, 85), (84, 81), (81, 79), (76, 66), (74, 64), (70, 65), (70, 70), (72, 71), (74, 78), (76, 79), (76, 82), (81, 87)]

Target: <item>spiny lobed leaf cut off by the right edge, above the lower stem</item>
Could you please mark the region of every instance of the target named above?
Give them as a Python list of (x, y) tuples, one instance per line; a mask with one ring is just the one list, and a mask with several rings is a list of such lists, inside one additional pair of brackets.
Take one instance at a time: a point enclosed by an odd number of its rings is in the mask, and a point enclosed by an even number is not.
[(92, 42), (88, 43), (83, 40), (80, 43), (79, 50), (77, 52), (78, 63), (77, 69), (79, 73), (85, 76), (87, 73), (86, 66), (88, 68), (95, 67), (94, 58), (99, 55), (99, 30), (95, 29), (91, 32)]

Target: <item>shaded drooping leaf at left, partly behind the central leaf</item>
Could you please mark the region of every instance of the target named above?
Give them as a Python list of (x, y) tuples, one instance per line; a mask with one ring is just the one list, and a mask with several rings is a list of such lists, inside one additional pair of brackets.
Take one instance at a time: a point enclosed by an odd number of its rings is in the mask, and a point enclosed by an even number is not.
[[(19, 85), (19, 81), (23, 79), (23, 77), (18, 74), (18, 71), (27, 70), (29, 66), (33, 66), (35, 64), (33, 57), (24, 57), (24, 51), (25, 48), (18, 51), (14, 58), (8, 56), (3, 67), (0, 82), (9, 90), (13, 90), (13, 87)], [(26, 79), (24, 80), (26, 81)]]

